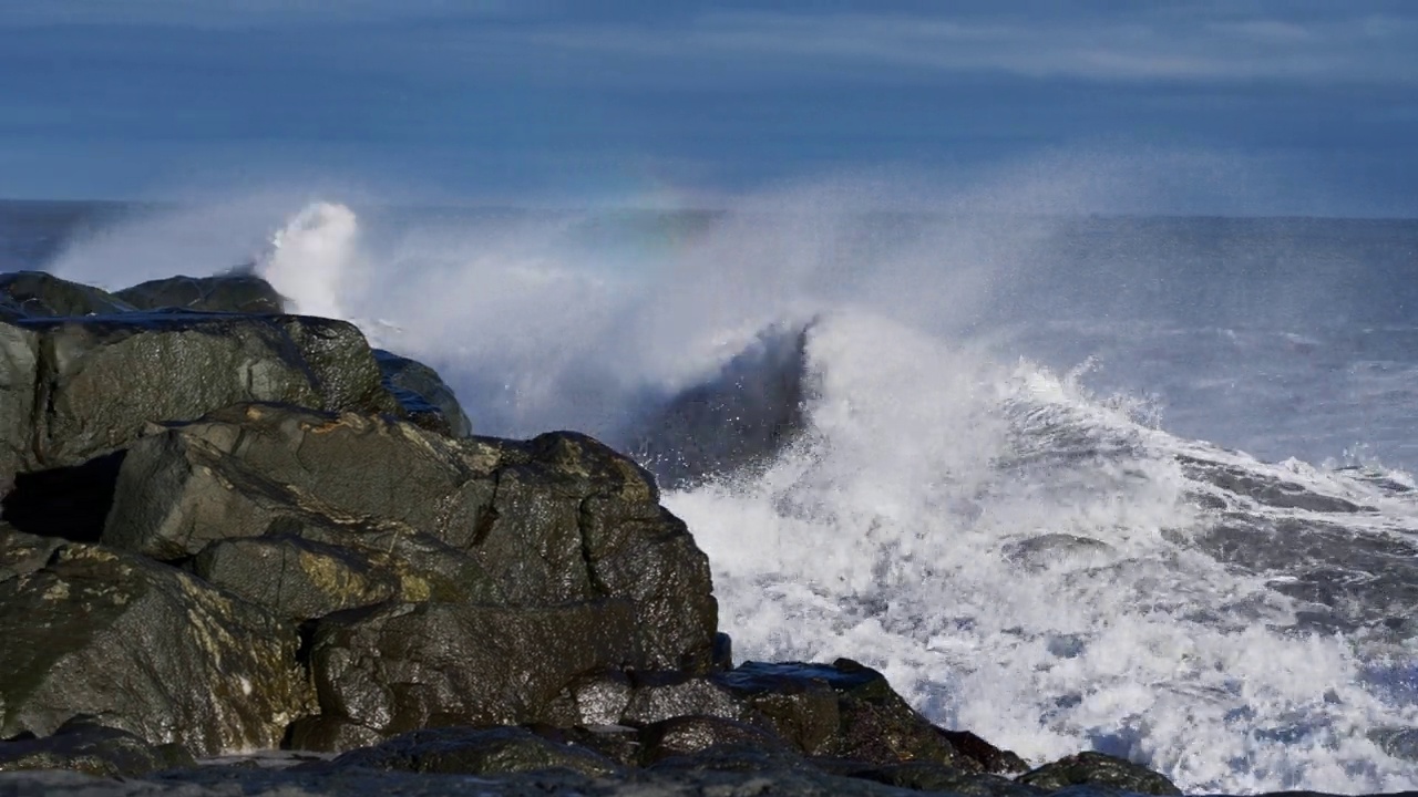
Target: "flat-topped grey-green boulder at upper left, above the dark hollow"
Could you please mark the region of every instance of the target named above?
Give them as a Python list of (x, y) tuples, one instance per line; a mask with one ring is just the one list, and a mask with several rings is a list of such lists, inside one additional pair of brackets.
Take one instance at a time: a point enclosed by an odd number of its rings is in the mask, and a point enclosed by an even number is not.
[(240, 401), (398, 411), (364, 338), (339, 321), (30, 319), (0, 325), (0, 347), (6, 472), (78, 465), (128, 445), (150, 421), (191, 420)]

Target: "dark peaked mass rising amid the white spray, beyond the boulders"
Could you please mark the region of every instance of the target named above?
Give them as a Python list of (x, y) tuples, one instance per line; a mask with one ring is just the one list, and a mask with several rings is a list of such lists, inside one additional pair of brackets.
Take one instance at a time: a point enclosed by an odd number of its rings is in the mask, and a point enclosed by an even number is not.
[(713, 379), (668, 398), (618, 440), (676, 489), (771, 459), (805, 427), (810, 330), (764, 330)]

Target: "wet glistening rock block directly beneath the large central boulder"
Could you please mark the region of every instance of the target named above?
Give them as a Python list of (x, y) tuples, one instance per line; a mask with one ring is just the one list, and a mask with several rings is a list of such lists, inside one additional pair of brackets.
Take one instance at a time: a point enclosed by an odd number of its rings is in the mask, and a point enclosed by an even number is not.
[(537, 722), (573, 679), (634, 665), (625, 601), (549, 608), (401, 603), (322, 618), (311, 667), (322, 716), (389, 736), (434, 725)]

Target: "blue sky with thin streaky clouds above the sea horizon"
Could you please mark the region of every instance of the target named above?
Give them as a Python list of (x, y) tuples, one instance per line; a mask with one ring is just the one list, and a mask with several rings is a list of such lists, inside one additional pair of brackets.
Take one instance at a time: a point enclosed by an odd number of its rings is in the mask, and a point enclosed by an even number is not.
[(712, 206), (1031, 163), (1180, 170), (1180, 210), (1418, 216), (1418, 3), (0, 3), (9, 197)]

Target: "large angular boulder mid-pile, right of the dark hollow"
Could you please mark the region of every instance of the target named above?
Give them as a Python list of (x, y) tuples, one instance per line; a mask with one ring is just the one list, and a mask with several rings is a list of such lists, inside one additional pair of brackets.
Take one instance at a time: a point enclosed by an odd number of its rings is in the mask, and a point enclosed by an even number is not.
[[(637, 668), (710, 667), (708, 559), (659, 506), (652, 478), (588, 437), (457, 441), (389, 417), (272, 406), (225, 408), (155, 437), (123, 462), (105, 540), (156, 550), (133, 542), (156, 535), (172, 546), (164, 556), (182, 556), (204, 547), (201, 529), (259, 536), (271, 506), (292, 501), (271, 498), (275, 484), (316, 515), (393, 519), (465, 552), (499, 603), (628, 600)], [(265, 481), (245, 486), (223, 457)]]

